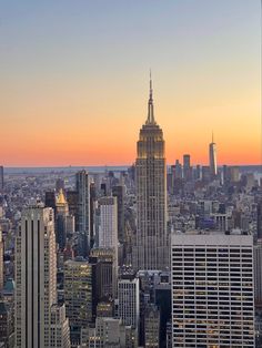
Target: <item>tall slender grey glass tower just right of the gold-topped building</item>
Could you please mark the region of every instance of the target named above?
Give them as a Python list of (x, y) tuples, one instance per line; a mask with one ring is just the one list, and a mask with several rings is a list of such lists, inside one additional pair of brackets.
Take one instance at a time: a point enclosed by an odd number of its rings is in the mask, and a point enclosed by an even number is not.
[(85, 171), (77, 173), (78, 209), (75, 229), (81, 234), (82, 256), (89, 255), (90, 249), (90, 180)]

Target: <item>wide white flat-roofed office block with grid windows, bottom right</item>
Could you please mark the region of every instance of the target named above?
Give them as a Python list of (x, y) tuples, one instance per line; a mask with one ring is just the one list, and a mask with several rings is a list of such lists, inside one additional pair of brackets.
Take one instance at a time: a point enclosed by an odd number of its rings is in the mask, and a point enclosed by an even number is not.
[(173, 234), (173, 347), (254, 347), (253, 237)]

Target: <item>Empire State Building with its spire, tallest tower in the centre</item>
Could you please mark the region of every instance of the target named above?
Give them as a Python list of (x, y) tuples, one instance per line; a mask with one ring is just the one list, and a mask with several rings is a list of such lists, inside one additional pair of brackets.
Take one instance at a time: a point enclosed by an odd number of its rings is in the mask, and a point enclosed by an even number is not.
[(167, 234), (167, 168), (163, 132), (154, 120), (153, 91), (150, 78), (148, 119), (137, 143), (137, 235), (133, 268), (169, 268)]

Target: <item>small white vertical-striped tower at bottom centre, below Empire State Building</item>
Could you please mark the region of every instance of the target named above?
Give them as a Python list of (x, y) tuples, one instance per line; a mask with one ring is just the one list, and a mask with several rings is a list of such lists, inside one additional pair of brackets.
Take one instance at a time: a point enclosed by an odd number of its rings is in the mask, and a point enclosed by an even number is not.
[(139, 328), (139, 278), (128, 277), (118, 282), (119, 318), (125, 326)]

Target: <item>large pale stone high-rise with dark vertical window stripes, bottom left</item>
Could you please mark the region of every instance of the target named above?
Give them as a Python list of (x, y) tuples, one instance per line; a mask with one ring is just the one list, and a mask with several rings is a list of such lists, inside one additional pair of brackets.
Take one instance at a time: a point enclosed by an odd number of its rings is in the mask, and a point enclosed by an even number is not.
[[(52, 208), (29, 207), (22, 212), (16, 239), (16, 347), (54, 347), (51, 308), (57, 303), (57, 254)], [(52, 324), (53, 325), (53, 324)], [(69, 325), (63, 325), (63, 345), (70, 347)], [(61, 334), (61, 335), (63, 335)], [(67, 338), (68, 337), (68, 338)]]

